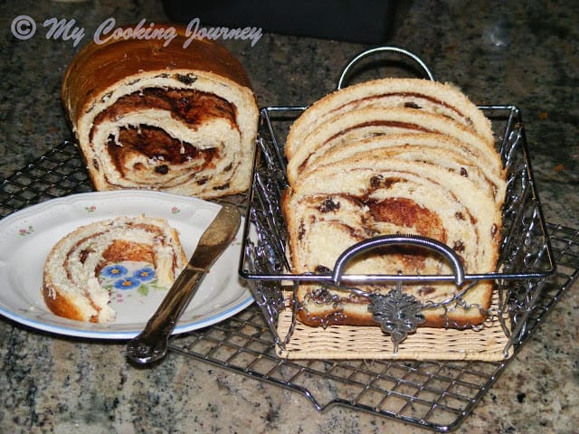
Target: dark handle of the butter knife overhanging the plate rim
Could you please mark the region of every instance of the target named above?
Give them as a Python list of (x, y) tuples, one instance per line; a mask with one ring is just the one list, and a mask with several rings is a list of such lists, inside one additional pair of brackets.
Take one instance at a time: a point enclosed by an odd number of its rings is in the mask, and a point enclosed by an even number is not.
[(176, 321), (191, 301), (204, 275), (204, 269), (194, 269), (187, 264), (143, 331), (128, 342), (127, 356), (130, 360), (146, 364), (165, 356)]

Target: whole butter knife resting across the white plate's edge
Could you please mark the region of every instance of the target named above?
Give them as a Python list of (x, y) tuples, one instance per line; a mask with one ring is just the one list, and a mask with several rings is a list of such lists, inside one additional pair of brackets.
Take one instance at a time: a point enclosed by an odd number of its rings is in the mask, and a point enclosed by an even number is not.
[(139, 364), (156, 362), (167, 352), (168, 339), (177, 319), (189, 304), (215, 259), (230, 245), (241, 222), (237, 208), (224, 204), (204, 231), (185, 269), (168, 290), (157, 312), (143, 331), (127, 344), (127, 356)]

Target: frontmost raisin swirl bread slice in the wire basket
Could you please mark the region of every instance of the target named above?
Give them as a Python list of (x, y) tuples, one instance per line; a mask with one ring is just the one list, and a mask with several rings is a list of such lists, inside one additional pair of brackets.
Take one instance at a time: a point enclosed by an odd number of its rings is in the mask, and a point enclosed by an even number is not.
[[(283, 198), (292, 269), (333, 269), (338, 255), (357, 241), (388, 233), (415, 233), (450, 246), (467, 272), (493, 271), (498, 259), (501, 215), (494, 198), (469, 178), (418, 161), (384, 158), (372, 152), (320, 165), (299, 179)], [(384, 251), (381, 251), (384, 253)], [(426, 251), (392, 250), (353, 260), (346, 273), (450, 274), (441, 257)], [(391, 287), (368, 287), (385, 291)], [(309, 325), (372, 325), (367, 300), (332, 288), (320, 302), (319, 286), (301, 285), (298, 317)], [(460, 289), (452, 284), (404, 286), (422, 304), (442, 303)], [(480, 324), (492, 285), (470, 289), (463, 304), (425, 309), (425, 326)], [(336, 298), (337, 297), (337, 298)], [(339, 301), (337, 301), (339, 300)]]

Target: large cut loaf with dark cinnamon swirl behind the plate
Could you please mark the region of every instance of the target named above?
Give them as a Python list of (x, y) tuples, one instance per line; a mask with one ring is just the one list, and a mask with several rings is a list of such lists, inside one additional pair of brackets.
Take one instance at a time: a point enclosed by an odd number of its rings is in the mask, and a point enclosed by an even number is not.
[(66, 71), (64, 109), (97, 190), (212, 198), (249, 187), (259, 117), (250, 80), (223, 46), (174, 27), (170, 43), (90, 42)]

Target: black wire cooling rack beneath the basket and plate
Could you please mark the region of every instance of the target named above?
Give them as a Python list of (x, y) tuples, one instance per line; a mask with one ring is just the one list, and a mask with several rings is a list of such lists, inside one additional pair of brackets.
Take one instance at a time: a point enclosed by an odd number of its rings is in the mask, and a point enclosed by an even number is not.
[[(34, 203), (91, 190), (79, 150), (71, 142), (62, 142), (5, 179), (0, 186), (0, 217)], [(557, 272), (536, 299), (516, 353), (579, 275), (579, 230), (555, 225), (548, 225), (548, 230)], [(459, 427), (508, 364), (282, 360), (275, 354), (271, 329), (255, 305), (223, 323), (177, 336), (170, 349), (301, 393), (319, 411), (346, 406), (441, 432)]]

